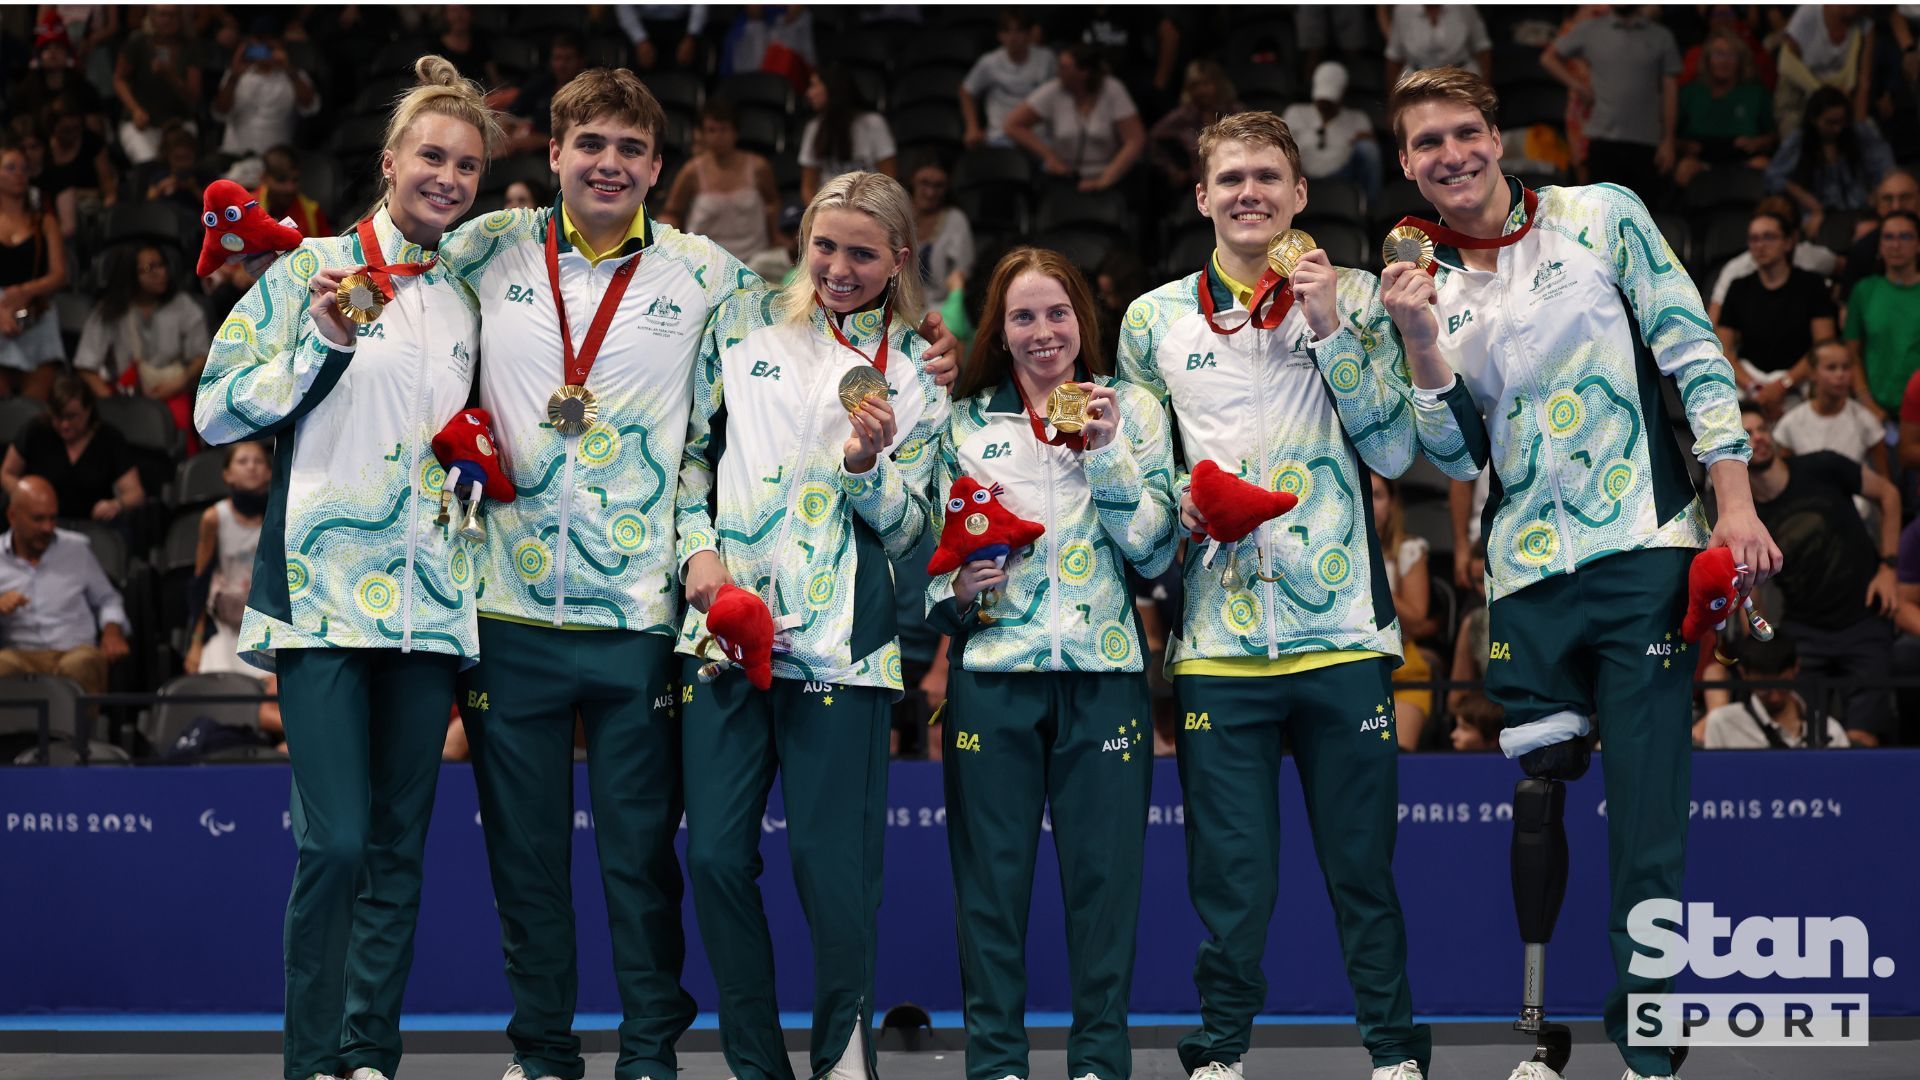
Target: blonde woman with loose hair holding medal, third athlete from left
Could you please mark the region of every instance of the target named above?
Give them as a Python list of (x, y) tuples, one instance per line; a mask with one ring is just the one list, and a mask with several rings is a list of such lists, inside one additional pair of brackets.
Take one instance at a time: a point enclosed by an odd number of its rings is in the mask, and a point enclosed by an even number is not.
[[(682, 686), (687, 872), (720, 986), (720, 1047), (741, 1080), (793, 1078), (755, 880), (776, 771), (814, 947), (812, 1076), (874, 1068), (887, 724), (900, 698), (889, 561), (927, 528), (947, 425), (912, 331), (924, 292), (906, 190), (879, 173), (833, 177), (801, 219), (801, 259), (780, 296), (737, 296), (714, 315), (680, 467), (693, 605), (680, 651), (695, 653)], [(737, 669), (697, 678), (705, 611), (728, 582), (774, 615), (770, 690)]]

